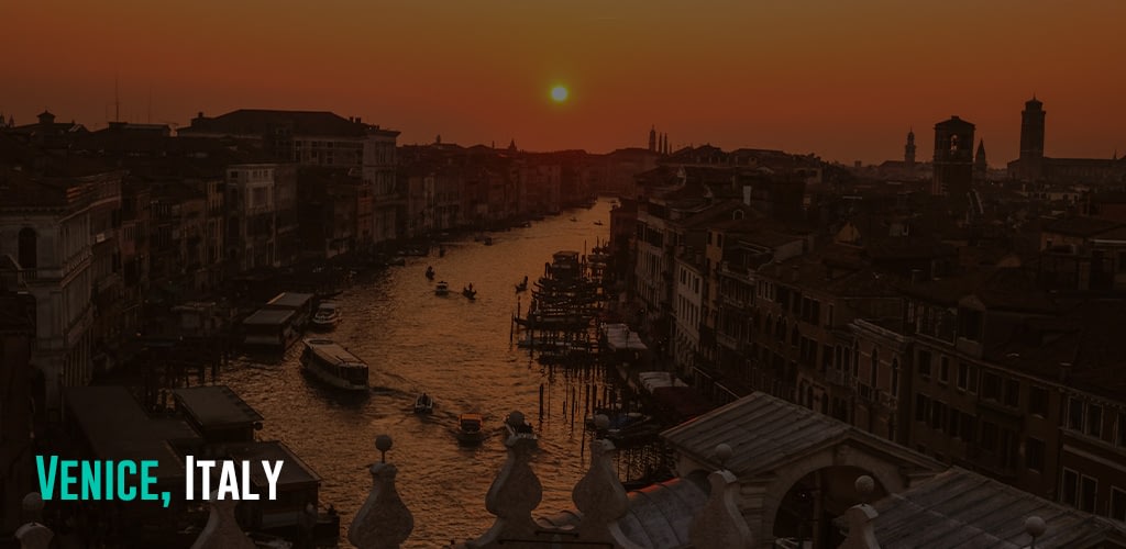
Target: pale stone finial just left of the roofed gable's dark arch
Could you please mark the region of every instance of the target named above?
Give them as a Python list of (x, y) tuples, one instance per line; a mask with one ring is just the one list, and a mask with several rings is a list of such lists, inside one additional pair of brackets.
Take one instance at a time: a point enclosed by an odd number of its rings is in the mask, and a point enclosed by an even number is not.
[[(727, 444), (720, 444), (731, 450)], [(716, 450), (720, 448), (716, 447)], [(718, 453), (718, 452), (717, 452)], [(731, 457), (730, 454), (727, 456)], [(726, 458), (721, 458), (726, 459)], [(749, 548), (751, 529), (739, 510), (739, 479), (731, 471), (718, 470), (708, 475), (712, 493), (707, 504), (692, 519), (688, 537), (692, 547)]]

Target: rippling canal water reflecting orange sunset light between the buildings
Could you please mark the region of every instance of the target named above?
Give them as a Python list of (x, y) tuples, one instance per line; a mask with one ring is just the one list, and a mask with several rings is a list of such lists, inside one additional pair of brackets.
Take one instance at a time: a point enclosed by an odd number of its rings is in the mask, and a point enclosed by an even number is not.
[[(544, 497), (536, 514), (573, 507), (571, 489), (590, 459), (586, 394), (602, 395), (602, 379), (595, 369), (547, 370), (513, 344), (518, 296), (526, 309), (530, 292), (516, 294), (515, 286), (525, 276), (529, 281), (542, 276), (558, 250), (589, 253), (605, 242), (610, 206), (602, 199), (592, 209), (490, 233), (492, 245), (472, 236), (447, 242), (445, 256), (435, 249), (430, 256), (408, 258), (404, 267), (346, 289), (334, 299), (343, 320), (329, 336), (370, 366), (373, 389), (366, 397), (350, 398), (306, 379), (300, 344), (280, 363), (241, 360), (223, 372), (220, 382), (265, 416), (259, 439), (285, 442), (323, 478), (321, 502), (341, 514), (342, 544), (372, 486), (367, 468), (379, 459), (378, 434), (394, 441), (387, 461), (399, 468), (399, 492), (414, 515), (406, 547), (483, 534), (493, 521), (485, 493), (506, 459), (502, 422), (511, 411), (522, 412), (539, 435), (533, 467)], [(449, 282), (447, 297), (435, 296), (434, 282), (423, 274), (427, 266), (436, 280)], [(461, 294), (468, 284), (477, 290), (476, 300)], [(435, 398), (432, 416), (412, 413), (423, 390)], [(464, 412), (483, 414), (492, 432), (479, 448), (458, 447), (454, 438)]]

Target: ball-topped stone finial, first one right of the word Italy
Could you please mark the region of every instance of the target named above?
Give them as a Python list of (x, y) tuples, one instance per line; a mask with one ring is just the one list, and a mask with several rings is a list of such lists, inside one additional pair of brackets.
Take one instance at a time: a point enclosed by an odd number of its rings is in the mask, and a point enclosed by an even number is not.
[(348, 541), (359, 549), (396, 549), (414, 530), (414, 516), (395, 489), (399, 469), (385, 462), (391, 436), (376, 436), (375, 447), (381, 462), (370, 468), (372, 492), (348, 526)]

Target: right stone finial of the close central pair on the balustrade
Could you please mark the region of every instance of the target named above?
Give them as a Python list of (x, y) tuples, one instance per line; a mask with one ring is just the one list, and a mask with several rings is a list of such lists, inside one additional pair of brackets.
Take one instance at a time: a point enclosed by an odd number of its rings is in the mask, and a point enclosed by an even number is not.
[(629, 511), (629, 497), (614, 469), (613, 452), (614, 443), (608, 440), (590, 444), (590, 470), (574, 486), (571, 498), (582, 512), (579, 531), (583, 541), (631, 549), (637, 546), (626, 538), (617, 523)]

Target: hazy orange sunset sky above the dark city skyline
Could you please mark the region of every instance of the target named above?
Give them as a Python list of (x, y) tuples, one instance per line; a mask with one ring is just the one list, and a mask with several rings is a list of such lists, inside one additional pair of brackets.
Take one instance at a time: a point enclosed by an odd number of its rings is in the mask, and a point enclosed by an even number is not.
[[(911, 9), (905, 9), (910, 7)], [(990, 163), (1034, 92), (1049, 156), (1126, 153), (1121, 0), (5, 2), (0, 112), (102, 127), (203, 110), (332, 110), (443, 141), (605, 152), (783, 148), (919, 159), (950, 115)], [(555, 83), (571, 90), (553, 105)]]

